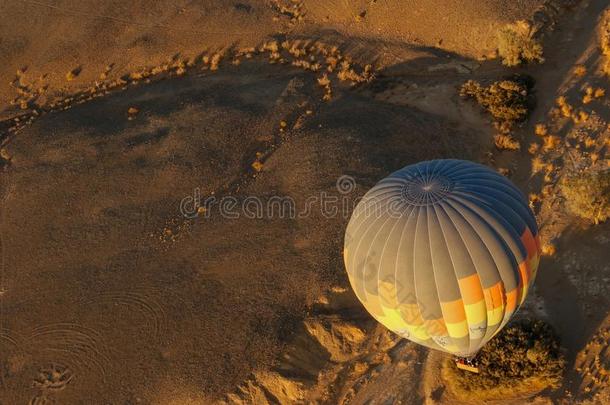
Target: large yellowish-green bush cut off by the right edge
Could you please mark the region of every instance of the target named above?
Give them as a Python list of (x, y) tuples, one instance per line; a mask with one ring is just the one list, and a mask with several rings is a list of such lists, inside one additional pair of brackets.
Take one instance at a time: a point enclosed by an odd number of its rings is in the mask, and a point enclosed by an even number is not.
[(610, 217), (610, 170), (568, 175), (559, 186), (573, 214), (595, 224)]

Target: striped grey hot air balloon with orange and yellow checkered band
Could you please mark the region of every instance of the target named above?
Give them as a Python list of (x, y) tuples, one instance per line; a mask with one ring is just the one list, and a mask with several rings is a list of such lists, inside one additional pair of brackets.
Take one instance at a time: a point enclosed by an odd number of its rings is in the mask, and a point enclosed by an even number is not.
[(473, 162), (400, 169), (356, 206), (344, 261), (356, 296), (396, 334), (471, 358), (519, 309), (540, 257), (517, 187)]

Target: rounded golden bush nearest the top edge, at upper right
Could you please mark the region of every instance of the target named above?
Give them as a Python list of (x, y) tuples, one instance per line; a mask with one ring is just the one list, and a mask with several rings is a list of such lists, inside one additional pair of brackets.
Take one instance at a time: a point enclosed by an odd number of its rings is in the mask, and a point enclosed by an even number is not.
[(534, 38), (534, 30), (527, 21), (509, 24), (498, 32), (498, 54), (502, 64), (518, 66), (524, 62), (544, 62), (542, 45)]

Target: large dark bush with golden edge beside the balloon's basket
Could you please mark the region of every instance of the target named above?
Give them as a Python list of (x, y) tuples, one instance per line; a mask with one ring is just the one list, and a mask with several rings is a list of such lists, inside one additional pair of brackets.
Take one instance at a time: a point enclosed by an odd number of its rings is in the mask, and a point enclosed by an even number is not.
[(552, 329), (542, 321), (511, 323), (477, 355), (479, 374), (458, 369), (450, 359), (443, 376), (458, 396), (491, 399), (557, 387), (564, 358)]

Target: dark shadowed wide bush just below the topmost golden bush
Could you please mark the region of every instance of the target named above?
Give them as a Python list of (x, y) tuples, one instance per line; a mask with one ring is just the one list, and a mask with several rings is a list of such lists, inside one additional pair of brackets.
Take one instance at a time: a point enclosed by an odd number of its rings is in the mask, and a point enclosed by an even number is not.
[(475, 80), (464, 83), (462, 97), (473, 98), (487, 110), (496, 122), (523, 121), (529, 113), (529, 79), (513, 76), (483, 86)]

